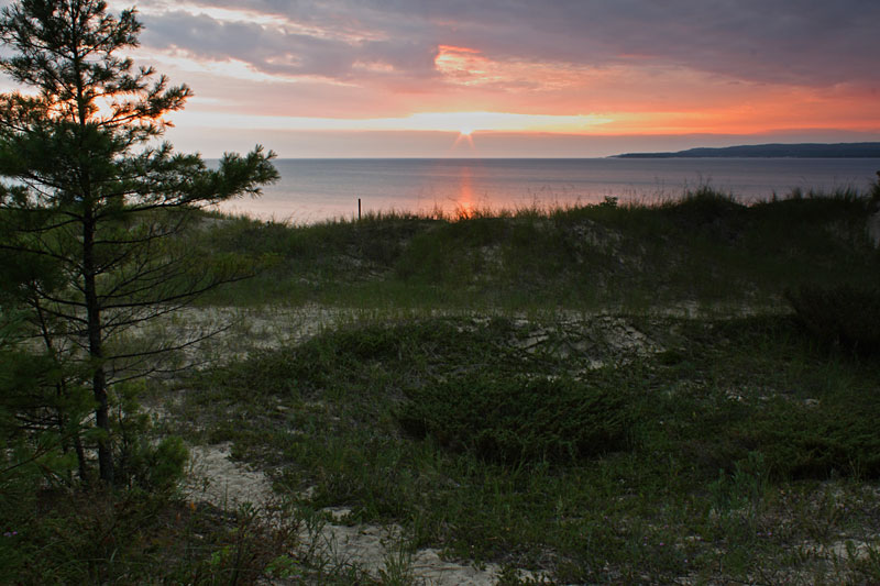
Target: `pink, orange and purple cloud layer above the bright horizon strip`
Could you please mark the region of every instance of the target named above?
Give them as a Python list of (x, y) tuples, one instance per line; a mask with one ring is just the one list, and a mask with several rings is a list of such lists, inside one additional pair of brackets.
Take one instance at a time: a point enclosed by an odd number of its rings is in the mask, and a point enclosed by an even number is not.
[(195, 112), (594, 114), (610, 121), (578, 132), (604, 134), (880, 131), (876, 2), (145, 4), (140, 54), (193, 86)]

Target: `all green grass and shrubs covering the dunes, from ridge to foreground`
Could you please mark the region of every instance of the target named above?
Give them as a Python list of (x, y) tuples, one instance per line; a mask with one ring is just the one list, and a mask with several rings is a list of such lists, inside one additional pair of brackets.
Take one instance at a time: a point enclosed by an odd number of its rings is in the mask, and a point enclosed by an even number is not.
[[(430, 546), (504, 584), (877, 583), (875, 203), (704, 189), (651, 208), (206, 218), (218, 254), (271, 267), (206, 306), (362, 310), (138, 391), (167, 411), (153, 433), (232, 442), (275, 501), (191, 504), (147, 474), (161, 456), (84, 499), (36, 461), (0, 476), (0, 567), (24, 584), (407, 584)], [(382, 572), (310, 546), (328, 507), (400, 528)]]

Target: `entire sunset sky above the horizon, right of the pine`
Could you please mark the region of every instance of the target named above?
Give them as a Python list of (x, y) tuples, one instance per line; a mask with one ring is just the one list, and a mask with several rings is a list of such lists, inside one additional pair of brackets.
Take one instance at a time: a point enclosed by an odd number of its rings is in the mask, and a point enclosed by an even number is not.
[(132, 55), (195, 93), (167, 137), (208, 157), (256, 143), (280, 157), (588, 157), (880, 141), (877, 0), (136, 9)]

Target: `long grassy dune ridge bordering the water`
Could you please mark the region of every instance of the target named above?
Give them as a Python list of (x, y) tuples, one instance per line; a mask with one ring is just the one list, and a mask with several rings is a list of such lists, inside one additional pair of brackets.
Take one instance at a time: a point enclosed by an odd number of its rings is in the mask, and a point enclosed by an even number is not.
[(851, 191), (750, 207), (700, 189), (660, 206), (373, 215), (285, 226), (216, 219), (223, 252), (274, 267), (215, 303), (529, 311), (783, 306), (802, 284), (868, 286), (880, 276), (865, 230), (871, 200)]

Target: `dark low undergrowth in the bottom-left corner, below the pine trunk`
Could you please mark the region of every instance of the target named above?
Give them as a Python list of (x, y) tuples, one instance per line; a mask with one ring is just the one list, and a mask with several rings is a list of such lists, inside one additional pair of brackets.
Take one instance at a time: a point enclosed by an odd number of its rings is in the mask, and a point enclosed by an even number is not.
[(288, 552), (299, 517), (289, 510), (261, 517), (254, 507), (220, 510), (127, 489), (3, 497), (0, 584), (264, 584), (296, 576)]

